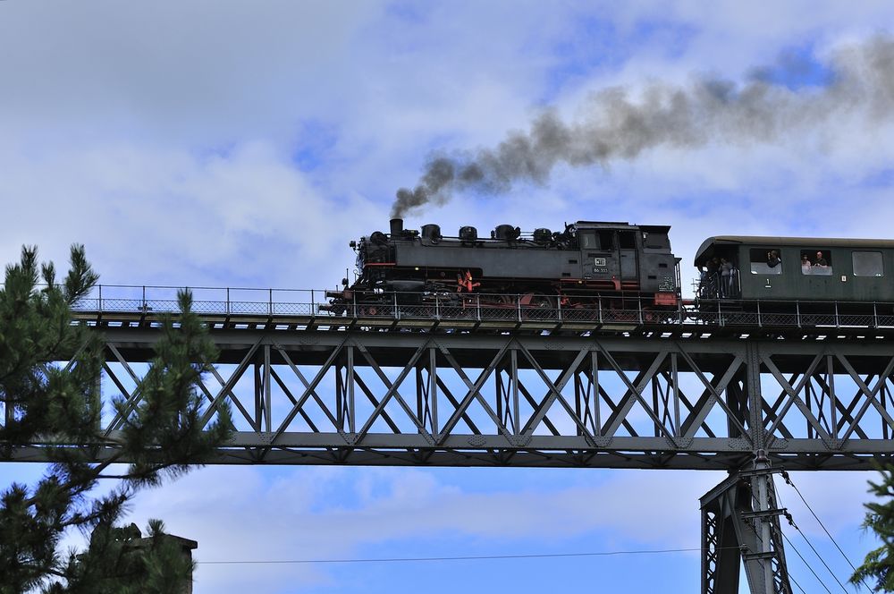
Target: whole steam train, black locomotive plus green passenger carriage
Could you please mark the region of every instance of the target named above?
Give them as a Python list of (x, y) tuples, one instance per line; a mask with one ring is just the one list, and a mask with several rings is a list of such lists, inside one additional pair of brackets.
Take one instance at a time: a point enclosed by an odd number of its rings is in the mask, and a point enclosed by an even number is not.
[(438, 225), (417, 231), (395, 218), (390, 233), (350, 242), (356, 279), (327, 292), (324, 309), (376, 315), (426, 302), (474, 303), (491, 310), (637, 310), (652, 321), (684, 310), (894, 314), (894, 241), (709, 237), (693, 261), (695, 299), (684, 303), (670, 229), (578, 221), (557, 232), (498, 225), (481, 237), (463, 226), (446, 236)]

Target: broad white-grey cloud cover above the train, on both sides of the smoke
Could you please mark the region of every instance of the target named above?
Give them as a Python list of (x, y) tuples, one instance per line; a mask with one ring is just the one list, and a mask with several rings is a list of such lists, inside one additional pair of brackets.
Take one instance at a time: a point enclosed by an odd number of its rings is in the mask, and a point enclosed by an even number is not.
[[(4, 4), (0, 200), (13, 206), (0, 253), (13, 259), (22, 243), (38, 243), (61, 259), (81, 241), (106, 282), (330, 285), (342, 276), (333, 269), (350, 266), (344, 243), (386, 225), (392, 192), (415, 181), (430, 148), (493, 145), (527, 126), (544, 93), (573, 111), (605, 86), (706, 71), (736, 78), (784, 47), (858, 39), (887, 10), (810, 5), (683, 2), (656, 14), (647, 4)], [(589, 55), (603, 51), (599, 38), (569, 37), (594, 13), (612, 39), (634, 40), (611, 47), (611, 65)], [(649, 33), (649, 21), (667, 30)], [(554, 69), (575, 60), (581, 73), (555, 87)], [(687, 235), (674, 233), (686, 260), (700, 241), (687, 227), (760, 229), (767, 205), (774, 233), (859, 233), (858, 211), (838, 205), (862, 197), (854, 186), (890, 162), (889, 138), (842, 124), (813, 148), (792, 139), (660, 149), (417, 218), (447, 230), (671, 223)], [(310, 165), (293, 161), (296, 147), (311, 151)], [(887, 199), (876, 193), (862, 203)], [(690, 197), (700, 214), (662, 207), (668, 196)], [(817, 201), (842, 211), (841, 233), (812, 214)]]

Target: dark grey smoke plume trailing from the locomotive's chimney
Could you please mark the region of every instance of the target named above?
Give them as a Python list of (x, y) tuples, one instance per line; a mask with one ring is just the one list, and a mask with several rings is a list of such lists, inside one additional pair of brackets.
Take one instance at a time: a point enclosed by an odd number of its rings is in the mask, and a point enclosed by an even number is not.
[[(894, 38), (841, 47), (816, 70), (784, 55), (741, 85), (705, 77), (687, 86), (653, 82), (637, 98), (628, 89), (604, 89), (570, 122), (546, 109), (527, 132), (510, 132), (495, 148), (431, 156), (416, 188), (397, 191), (392, 217), (443, 204), (455, 191), (501, 193), (514, 182), (544, 183), (558, 164), (604, 166), (659, 146), (768, 143), (833, 119), (872, 125), (894, 116)], [(779, 82), (811, 75), (822, 80), (794, 90)]]

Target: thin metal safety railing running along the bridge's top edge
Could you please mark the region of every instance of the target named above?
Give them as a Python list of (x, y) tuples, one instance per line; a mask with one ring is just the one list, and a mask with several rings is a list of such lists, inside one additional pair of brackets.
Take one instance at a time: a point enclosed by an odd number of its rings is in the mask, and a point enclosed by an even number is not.
[[(97, 316), (126, 314), (155, 318), (176, 313), (179, 287), (97, 286), (74, 310)], [(711, 326), (781, 328), (879, 328), (894, 330), (890, 303), (835, 301), (687, 301), (661, 309), (651, 300), (593, 296), (575, 305), (554, 297), (455, 293), (376, 293), (375, 301), (330, 304), (324, 290), (191, 287), (193, 310), (208, 317), (315, 318), (345, 320), (434, 320), (508, 323), (584, 324), (592, 326)]]

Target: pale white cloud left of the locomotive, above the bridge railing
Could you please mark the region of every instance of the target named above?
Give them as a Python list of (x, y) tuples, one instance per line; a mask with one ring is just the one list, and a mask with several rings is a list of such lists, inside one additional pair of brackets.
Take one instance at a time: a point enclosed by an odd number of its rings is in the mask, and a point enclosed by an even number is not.
[(52, 175), (9, 159), (0, 178), (7, 259), (22, 243), (64, 259), (82, 242), (105, 283), (294, 285), (344, 241), (331, 224), (337, 207), (265, 142), (207, 157), (90, 148), (57, 157)]

